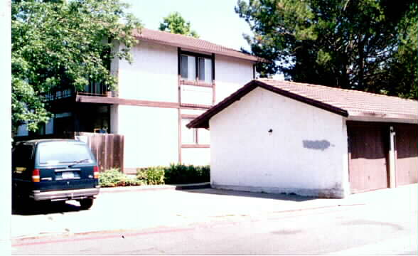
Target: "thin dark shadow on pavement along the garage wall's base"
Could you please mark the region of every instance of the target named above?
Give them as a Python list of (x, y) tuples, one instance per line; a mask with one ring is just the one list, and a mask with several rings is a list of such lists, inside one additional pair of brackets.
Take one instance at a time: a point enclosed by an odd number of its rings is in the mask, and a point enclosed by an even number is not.
[(188, 193), (205, 193), (210, 195), (221, 195), (221, 196), (240, 196), (240, 197), (251, 197), (251, 198), (266, 198), (266, 199), (276, 199), (282, 201), (294, 201), (294, 202), (304, 202), (315, 200), (318, 198), (309, 197), (309, 196), (297, 196), (294, 193), (257, 193), (257, 192), (246, 192), (246, 191), (232, 191), (226, 189), (216, 189), (216, 188), (202, 188), (202, 189), (193, 189), (193, 190), (183, 190)]

